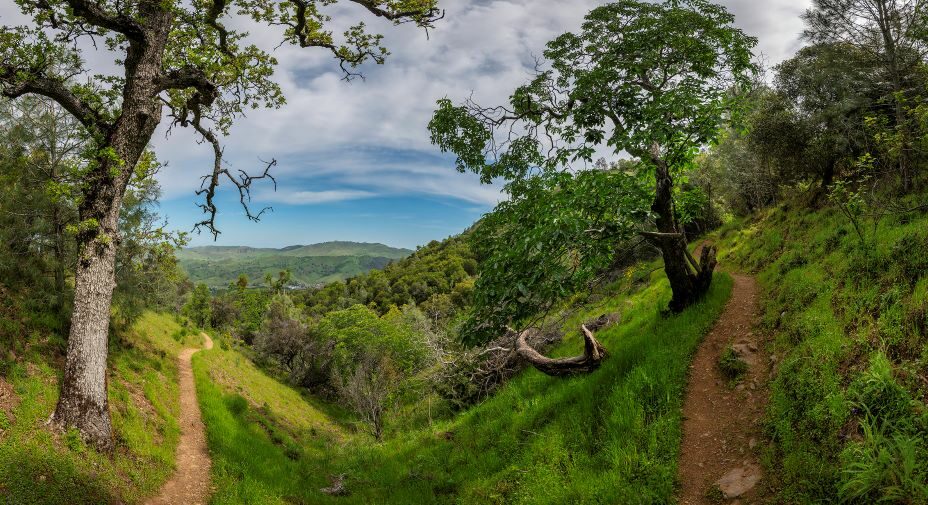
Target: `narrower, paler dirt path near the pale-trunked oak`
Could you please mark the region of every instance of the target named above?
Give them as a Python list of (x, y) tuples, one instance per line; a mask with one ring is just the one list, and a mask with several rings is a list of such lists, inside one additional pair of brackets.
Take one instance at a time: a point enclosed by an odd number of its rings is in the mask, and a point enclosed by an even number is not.
[[(213, 348), (213, 340), (206, 333), (203, 349)], [(206, 448), (206, 431), (197, 403), (197, 390), (193, 382), (191, 358), (200, 349), (184, 349), (178, 356), (180, 377), (180, 443), (177, 445), (177, 467), (158, 496), (147, 505), (204, 505), (209, 501), (211, 461)]]

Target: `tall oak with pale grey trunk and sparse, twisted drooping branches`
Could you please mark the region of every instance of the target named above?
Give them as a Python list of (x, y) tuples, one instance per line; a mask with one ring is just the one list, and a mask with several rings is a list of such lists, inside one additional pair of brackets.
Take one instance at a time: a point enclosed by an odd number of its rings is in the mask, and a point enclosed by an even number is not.
[[(212, 147), (212, 169), (197, 191), (205, 212), (198, 229), (214, 234), (220, 181), (234, 186), (250, 219), (249, 188), (270, 177), (233, 172), (222, 163), (220, 137), (244, 111), (283, 104), (272, 80), (275, 59), (235, 27), (250, 20), (279, 29), (281, 42), (328, 51), (356, 75), (382, 63), (382, 36), (363, 21), (333, 34), (326, 8), (428, 28), (443, 13), (436, 0), (16, 0), (31, 23), (0, 32), (0, 92), (42, 95), (59, 103), (87, 132), (77, 226), (75, 302), (61, 396), (54, 420), (77, 427), (97, 447), (112, 447), (106, 361), (120, 208), (136, 163), (163, 122), (189, 128)], [(119, 72), (94, 70), (91, 50), (118, 55)]]

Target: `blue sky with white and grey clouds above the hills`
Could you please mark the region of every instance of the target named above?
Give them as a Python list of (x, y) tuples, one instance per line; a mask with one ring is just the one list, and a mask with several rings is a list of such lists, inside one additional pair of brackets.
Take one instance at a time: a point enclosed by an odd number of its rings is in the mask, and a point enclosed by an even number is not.
[[(7, 0), (0, 23), (15, 19)], [(367, 19), (392, 52), (385, 65), (363, 69), (366, 80), (345, 83), (331, 56), (280, 47), (277, 80), (287, 96), (279, 110), (251, 112), (225, 140), (234, 169), (257, 170), (275, 158), (276, 192), (261, 185), (254, 206), (272, 206), (261, 223), (244, 219), (237, 194), (222, 192), (217, 244), (282, 247), (328, 240), (383, 242), (414, 247), (464, 230), (491, 209), (498, 189), (457, 173), (453, 159), (429, 144), (426, 124), (435, 101), (502, 103), (525, 81), (534, 57), (557, 35), (579, 27), (604, 1), (444, 0), (446, 17), (425, 32)], [(737, 24), (759, 38), (767, 65), (799, 47), (800, 14), (810, 0), (721, 0)], [(328, 8), (338, 23), (365, 12), (353, 4)], [(279, 43), (273, 29), (248, 26), (264, 48)], [(90, 56), (90, 55), (88, 55)], [(160, 174), (161, 212), (171, 227), (189, 230), (201, 218), (193, 194), (211, 166), (210, 150), (188, 132), (155, 140), (168, 163)], [(194, 245), (211, 244), (207, 235)]]

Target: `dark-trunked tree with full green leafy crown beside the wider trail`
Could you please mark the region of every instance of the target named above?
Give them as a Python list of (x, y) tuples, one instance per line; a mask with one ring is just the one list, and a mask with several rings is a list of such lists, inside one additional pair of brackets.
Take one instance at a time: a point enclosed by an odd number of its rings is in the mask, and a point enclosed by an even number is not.
[[(675, 195), (755, 72), (756, 40), (733, 23), (706, 0), (621, 0), (549, 42), (547, 63), (509, 104), (439, 102), (432, 142), (457, 156), (459, 171), (506, 181), (509, 196), (477, 228), (486, 259), (475, 314), (489, 326), (474, 324), (475, 340), (550, 307), (633, 235), (660, 249), (673, 311), (707, 291), (715, 251), (692, 257)], [(636, 168), (591, 167), (602, 151), (629, 153)]]

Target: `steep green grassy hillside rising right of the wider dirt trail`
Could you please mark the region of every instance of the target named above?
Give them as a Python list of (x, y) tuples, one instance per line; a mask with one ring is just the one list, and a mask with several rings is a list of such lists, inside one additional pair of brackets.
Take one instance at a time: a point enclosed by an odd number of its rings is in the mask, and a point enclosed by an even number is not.
[(928, 503), (928, 215), (781, 206), (720, 233), (778, 360), (778, 503)]

